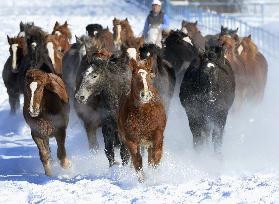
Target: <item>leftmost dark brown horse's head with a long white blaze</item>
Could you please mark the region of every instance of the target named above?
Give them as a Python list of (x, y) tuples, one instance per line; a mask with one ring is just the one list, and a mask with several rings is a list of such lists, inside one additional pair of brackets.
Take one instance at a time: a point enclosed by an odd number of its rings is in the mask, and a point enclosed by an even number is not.
[(10, 55), (12, 57), (12, 72), (17, 73), (23, 56), (27, 54), (25, 39), (24, 37), (10, 38), (9, 36), (7, 36), (7, 39), (10, 45)]

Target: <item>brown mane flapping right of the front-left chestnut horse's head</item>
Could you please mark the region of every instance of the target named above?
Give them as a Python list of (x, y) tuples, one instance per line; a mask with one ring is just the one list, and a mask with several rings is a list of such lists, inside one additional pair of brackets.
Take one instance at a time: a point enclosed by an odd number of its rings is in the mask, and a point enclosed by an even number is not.
[(62, 79), (56, 74), (49, 73), (49, 83), (46, 85), (46, 89), (49, 91), (56, 93), (59, 98), (64, 102), (69, 102), (69, 97), (66, 91), (66, 87)]

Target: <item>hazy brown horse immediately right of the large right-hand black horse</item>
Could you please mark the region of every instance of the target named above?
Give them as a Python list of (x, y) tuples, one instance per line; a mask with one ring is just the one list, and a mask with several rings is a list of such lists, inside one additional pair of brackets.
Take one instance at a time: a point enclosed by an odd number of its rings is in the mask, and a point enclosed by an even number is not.
[(239, 111), (243, 103), (247, 100), (249, 83), (248, 73), (243, 61), (237, 55), (238, 37), (223, 35), (219, 38), (220, 42), (225, 45), (225, 58), (229, 61), (235, 75), (235, 99), (233, 111)]

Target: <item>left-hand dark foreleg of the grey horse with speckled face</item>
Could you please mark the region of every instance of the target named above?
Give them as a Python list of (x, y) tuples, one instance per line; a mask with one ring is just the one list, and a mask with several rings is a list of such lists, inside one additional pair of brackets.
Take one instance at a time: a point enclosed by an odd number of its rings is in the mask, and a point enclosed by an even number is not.
[(111, 167), (118, 163), (114, 160), (113, 143), (115, 138), (114, 138), (114, 130), (109, 120), (103, 123), (102, 132), (103, 132), (104, 143), (105, 143), (105, 153), (109, 160), (109, 166)]

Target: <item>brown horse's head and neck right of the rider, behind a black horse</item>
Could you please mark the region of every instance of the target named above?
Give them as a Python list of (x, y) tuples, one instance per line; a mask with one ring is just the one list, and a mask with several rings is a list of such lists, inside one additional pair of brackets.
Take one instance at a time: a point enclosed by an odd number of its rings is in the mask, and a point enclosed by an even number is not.
[(189, 35), (193, 39), (193, 44), (198, 50), (203, 52), (205, 50), (205, 38), (198, 29), (198, 21), (192, 23), (183, 20), (181, 23), (181, 31)]

